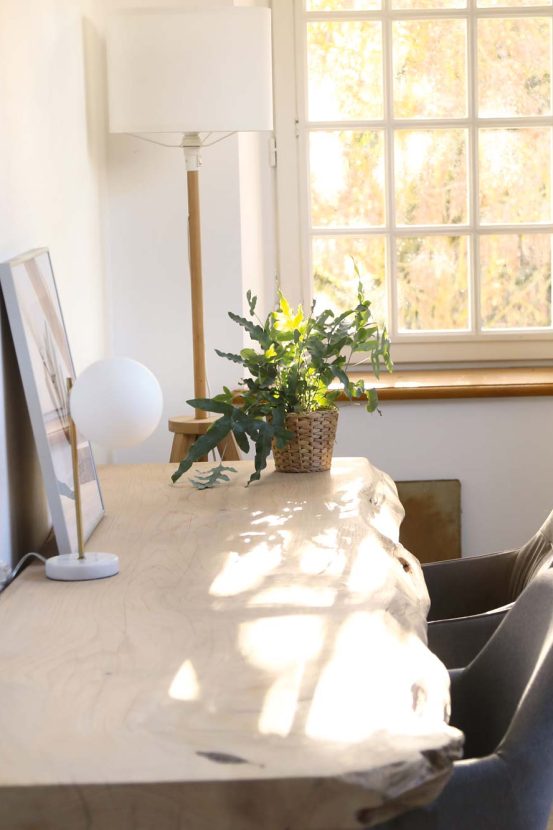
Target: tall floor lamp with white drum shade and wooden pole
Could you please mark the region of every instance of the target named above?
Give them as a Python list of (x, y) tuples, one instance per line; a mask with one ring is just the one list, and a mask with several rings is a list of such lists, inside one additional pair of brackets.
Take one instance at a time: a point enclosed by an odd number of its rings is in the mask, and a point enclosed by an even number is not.
[[(166, 146), (182, 148), (186, 160), (194, 397), (205, 398), (200, 152), (236, 132), (272, 129), (270, 11), (121, 12), (108, 28), (107, 70), (110, 132), (157, 143), (151, 134), (182, 135)], [(171, 461), (180, 461), (212, 421), (204, 410), (170, 419)], [(219, 450), (238, 457), (228, 443)]]

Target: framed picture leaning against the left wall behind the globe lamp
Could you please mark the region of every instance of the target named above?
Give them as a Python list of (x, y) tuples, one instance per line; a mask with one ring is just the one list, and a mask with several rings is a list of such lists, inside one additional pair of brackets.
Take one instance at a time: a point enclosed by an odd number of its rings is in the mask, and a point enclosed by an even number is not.
[[(75, 369), (48, 250), (0, 264), (0, 284), (58, 550), (72, 553), (78, 542), (67, 379), (75, 380)], [(104, 515), (104, 505), (92, 448), (80, 435), (78, 462), (87, 539)]]

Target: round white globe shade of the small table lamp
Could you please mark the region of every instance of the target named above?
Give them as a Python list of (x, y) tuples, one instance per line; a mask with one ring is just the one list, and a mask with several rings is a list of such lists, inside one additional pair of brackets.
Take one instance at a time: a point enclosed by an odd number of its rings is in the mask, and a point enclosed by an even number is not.
[(152, 434), (163, 396), (152, 372), (128, 357), (92, 363), (71, 390), (71, 417), (90, 441), (111, 449), (131, 447)]

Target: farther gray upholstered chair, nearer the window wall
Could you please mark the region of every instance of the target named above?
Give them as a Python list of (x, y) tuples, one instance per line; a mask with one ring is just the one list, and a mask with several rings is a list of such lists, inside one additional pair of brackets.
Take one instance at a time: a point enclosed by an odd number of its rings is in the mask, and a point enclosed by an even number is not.
[(423, 565), (430, 594), (428, 647), (466, 666), (529, 582), (553, 563), (553, 511), (521, 548)]

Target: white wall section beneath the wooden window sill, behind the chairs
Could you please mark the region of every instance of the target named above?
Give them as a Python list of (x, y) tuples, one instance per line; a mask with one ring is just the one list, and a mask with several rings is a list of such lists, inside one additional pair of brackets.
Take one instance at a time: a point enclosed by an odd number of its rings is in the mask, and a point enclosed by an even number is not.
[(340, 410), (338, 455), (396, 481), (461, 481), (464, 556), (525, 542), (553, 509), (553, 398), (383, 401)]

